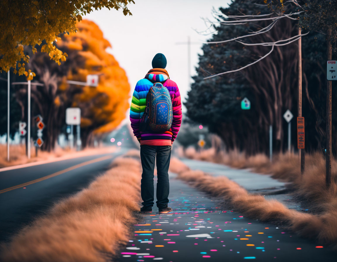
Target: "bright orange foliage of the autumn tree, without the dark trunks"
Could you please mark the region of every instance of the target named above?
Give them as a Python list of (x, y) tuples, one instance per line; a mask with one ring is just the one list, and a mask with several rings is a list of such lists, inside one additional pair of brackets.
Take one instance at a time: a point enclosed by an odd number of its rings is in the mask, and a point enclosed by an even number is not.
[(71, 105), (81, 108), (81, 128), (87, 144), (93, 141), (93, 136), (112, 131), (125, 118), (130, 86), (125, 71), (114, 56), (105, 51), (111, 45), (99, 27), (88, 20), (76, 27), (77, 33), (65, 35), (58, 46), (67, 53), (78, 52), (85, 61), (78, 64), (76, 74), (69, 72), (68, 79), (86, 81), (88, 74), (99, 75), (98, 86), (84, 87), (83, 92), (74, 96)]

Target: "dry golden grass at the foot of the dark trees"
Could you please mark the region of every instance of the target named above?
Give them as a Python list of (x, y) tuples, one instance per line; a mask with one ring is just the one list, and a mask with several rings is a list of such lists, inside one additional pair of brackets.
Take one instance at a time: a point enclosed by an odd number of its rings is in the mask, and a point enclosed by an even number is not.
[(186, 156), (192, 159), (222, 163), (234, 168), (250, 168), (254, 172), (271, 174), (273, 178), (290, 182), (294, 194), (307, 200), (308, 207), (315, 212), (337, 211), (337, 161), (332, 161), (333, 183), (327, 188), (326, 162), (321, 153), (306, 155), (305, 171), (301, 174), (299, 156), (296, 154), (278, 154), (273, 158), (273, 162), (270, 162), (264, 154), (246, 156), (237, 150), (217, 155), (212, 149), (202, 152), (196, 152), (192, 148), (188, 150)]

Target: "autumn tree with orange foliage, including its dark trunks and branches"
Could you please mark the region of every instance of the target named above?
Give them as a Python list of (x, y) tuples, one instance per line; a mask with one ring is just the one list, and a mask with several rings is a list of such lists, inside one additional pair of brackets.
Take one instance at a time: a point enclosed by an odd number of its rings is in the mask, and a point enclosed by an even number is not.
[[(57, 42), (57, 48), (66, 52), (68, 58), (58, 66), (48, 54), (31, 52), (26, 66), (36, 72), (33, 81), (43, 86), (32, 86), (32, 115), (41, 114), (46, 126), (43, 130), (42, 150), (51, 151), (59, 134), (65, 127), (67, 107), (81, 108), (81, 138), (83, 146), (117, 127), (128, 109), (130, 86), (125, 71), (114, 56), (106, 52), (111, 47), (102, 31), (91, 21), (76, 24), (77, 32), (64, 34)], [(43, 46), (43, 43), (41, 44)], [(37, 51), (41, 46), (36, 46)], [(97, 87), (67, 84), (67, 80), (86, 82), (88, 74), (99, 75)], [(21, 76), (22, 77), (22, 76)], [(17, 76), (17, 80), (20, 77)], [(26, 87), (16, 90), (16, 97), (24, 112), (26, 108)], [(27, 112), (24, 113), (27, 117)], [(32, 134), (35, 134), (33, 131)]]

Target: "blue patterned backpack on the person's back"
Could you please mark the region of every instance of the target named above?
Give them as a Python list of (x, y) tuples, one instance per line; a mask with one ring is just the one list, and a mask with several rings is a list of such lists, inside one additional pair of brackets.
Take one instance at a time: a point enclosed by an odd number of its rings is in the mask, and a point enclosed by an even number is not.
[(173, 109), (170, 92), (161, 83), (154, 83), (146, 97), (146, 108), (140, 129), (165, 132), (171, 129)]

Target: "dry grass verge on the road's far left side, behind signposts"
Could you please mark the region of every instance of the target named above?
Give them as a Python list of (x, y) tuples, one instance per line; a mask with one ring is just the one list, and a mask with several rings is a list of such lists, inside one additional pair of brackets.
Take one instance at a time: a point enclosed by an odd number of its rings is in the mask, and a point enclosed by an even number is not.
[(26, 157), (26, 146), (25, 145), (10, 145), (9, 146), (9, 162), (7, 161), (7, 145), (0, 144), (0, 168), (14, 165), (21, 165), (36, 161), (52, 160), (60, 157), (81, 157), (93, 154), (104, 154), (108, 152), (114, 152), (115, 147), (100, 147), (100, 148), (85, 148), (81, 151), (76, 151), (70, 148), (56, 148), (52, 152), (40, 151), (37, 156), (35, 155), (35, 148), (31, 148), (30, 155), (31, 158)]

